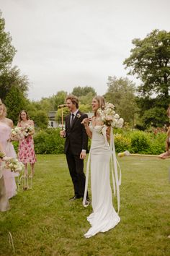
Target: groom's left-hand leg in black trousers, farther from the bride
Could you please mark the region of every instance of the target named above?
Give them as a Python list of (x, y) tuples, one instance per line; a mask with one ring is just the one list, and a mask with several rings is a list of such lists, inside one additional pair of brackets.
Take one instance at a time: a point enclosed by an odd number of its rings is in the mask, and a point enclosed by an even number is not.
[(71, 175), (71, 179), (73, 182), (73, 189), (74, 189), (74, 195), (76, 197), (80, 197), (79, 195), (79, 181), (78, 181), (78, 175), (76, 173), (76, 163), (74, 156), (71, 152), (66, 153), (66, 159), (68, 163), (68, 169)]

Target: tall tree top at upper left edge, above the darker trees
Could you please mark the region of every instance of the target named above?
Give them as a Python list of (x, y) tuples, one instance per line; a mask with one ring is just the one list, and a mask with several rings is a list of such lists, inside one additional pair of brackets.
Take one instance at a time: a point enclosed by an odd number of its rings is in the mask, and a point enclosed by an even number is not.
[(9, 35), (9, 33), (6, 33), (4, 29), (5, 20), (1, 17), (0, 11), (0, 72), (7, 65), (12, 63), (12, 59), (16, 53), (14, 46), (11, 44), (12, 37)]

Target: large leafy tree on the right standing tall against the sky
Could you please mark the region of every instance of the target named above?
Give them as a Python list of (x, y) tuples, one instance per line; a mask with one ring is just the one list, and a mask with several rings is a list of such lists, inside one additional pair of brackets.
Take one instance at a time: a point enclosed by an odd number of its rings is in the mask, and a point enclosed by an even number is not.
[(164, 108), (169, 105), (170, 88), (170, 33), (165, 30), (153, 30), (143, 40), (133, 39), (135, 48), (125, 59), (128, 74), (137, 74), (142, 80), (138, 91), (145, 99), (155, 95), (164, 101)]

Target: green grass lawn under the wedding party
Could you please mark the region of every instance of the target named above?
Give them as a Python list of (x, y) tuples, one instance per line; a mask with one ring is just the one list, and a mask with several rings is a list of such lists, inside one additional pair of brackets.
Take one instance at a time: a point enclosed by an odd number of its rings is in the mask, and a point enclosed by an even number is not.
[(0, 255), (14, 255), (9, 232), (15, 255), (170, 255), (170, 159), (118, 160), (121, 221), (86, 239), (91, 206), (69, 202), (73, 186), (65, 155), (38, 155), (32, 190), (20, 187), (11, 210), (0, 213)]

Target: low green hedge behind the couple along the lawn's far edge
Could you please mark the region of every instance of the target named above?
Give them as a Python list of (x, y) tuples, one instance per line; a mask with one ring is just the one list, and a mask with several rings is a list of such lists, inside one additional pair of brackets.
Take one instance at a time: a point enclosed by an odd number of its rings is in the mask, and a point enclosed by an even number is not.
[[(119, 131), (118, 131), (119, 132)], [(129, 150), (130, 153), (158, 155), (165, 151), (166, 133), (143, 131), (121, 131), (115, 133), (115, 149), (117, 153)], [(59, 128), (41, 129), (35, 133), (35, 153), (37, 154), (60, 154), (63, 153), (65, 139), (60, 137)], [(17, 151), (18, 142), (13, 142)], [(91, 140), (89, 140), (88, 151)]]

